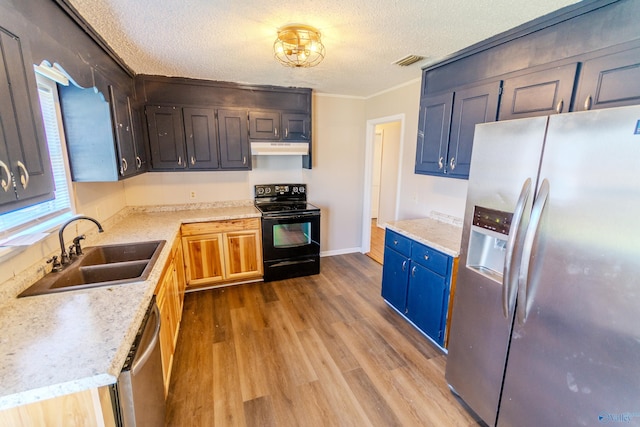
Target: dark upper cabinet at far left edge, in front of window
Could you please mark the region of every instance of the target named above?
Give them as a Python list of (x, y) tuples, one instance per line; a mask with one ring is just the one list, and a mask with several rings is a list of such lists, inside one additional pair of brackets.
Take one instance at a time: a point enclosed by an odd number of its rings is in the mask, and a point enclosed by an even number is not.
[(0, 17), (0, 213), (54, 197), (33, 61)]

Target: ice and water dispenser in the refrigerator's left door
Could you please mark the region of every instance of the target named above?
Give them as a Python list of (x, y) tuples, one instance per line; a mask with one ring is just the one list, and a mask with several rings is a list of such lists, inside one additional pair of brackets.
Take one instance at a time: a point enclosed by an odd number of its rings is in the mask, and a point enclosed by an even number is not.
[(511, 212), (475, 206), (469, 236), (467, 267), (502, 283)]

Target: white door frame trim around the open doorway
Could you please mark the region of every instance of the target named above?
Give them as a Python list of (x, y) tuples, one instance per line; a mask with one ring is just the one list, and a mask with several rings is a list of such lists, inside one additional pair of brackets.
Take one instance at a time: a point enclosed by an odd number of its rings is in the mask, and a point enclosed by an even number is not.
[[(375, 143), (377, 125), (391, 122), (400, 122), (400, 152), (398, 153), (398, 180), (396, 186), (396, 201), (394, 207), (393, 219), (397, 221), (398, 210), (400, 207), (400, 188), (402, 185), (402, 159), (404, 153), (404, 130), (405, 115), (396, 114), (393, 116), (380, 117), (377, 119), (367, 120), (366, 125), (366, 144), (364, 151), (364, 187), (362, 200), (362, 241), (360, 243), (360, 252), (367, 253), (371, 250), (371, 182), (373, 180), (373, 145)], [(384, 141), (383, 141), (384, 146)]]

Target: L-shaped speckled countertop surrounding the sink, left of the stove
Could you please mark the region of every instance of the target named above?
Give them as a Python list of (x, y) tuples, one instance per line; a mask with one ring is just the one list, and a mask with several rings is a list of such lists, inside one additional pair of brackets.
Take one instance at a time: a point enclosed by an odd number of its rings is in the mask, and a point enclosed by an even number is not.
[(27, 298), (16, 295), (42, 271), (0, 284), (0, 410), (114, 384), (180, 225), (253, 217), (250, 201), (125, 208), (86, 246), (166, 240), (146, 281)]

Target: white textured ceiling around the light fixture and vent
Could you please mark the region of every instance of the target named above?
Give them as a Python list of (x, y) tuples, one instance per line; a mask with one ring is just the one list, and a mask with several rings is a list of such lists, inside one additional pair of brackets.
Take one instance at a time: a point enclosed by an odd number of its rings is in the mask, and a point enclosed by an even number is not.
[[(367, 97), (420, 67), (575, 0), (70, 0), (136, 72)], [(315, 68), (273, 58), (276, 29), (317, 27)], [(426, 57), (409, 67), (392, 62)]]

